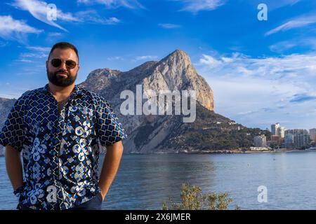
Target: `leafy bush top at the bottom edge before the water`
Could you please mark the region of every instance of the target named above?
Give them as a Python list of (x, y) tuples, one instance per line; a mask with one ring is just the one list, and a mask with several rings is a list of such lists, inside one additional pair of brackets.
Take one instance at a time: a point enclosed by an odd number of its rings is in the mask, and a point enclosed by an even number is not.
[(232, 202), (229, 193), (202, 194), (202, 188), (188, 183), (183, 183), (180, 197), (182, 202), (179, 203), (169, 197), (169, 202), (162, 203), (162, 210), (226, 210)]

